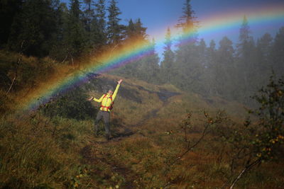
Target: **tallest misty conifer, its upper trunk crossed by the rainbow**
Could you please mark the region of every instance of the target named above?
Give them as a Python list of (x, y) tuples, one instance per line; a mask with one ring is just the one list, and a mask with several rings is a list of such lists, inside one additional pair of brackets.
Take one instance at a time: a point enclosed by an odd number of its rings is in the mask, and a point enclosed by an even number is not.
[(182, 16), (178, 25), (176, 25), (177, 28), (182, 29), (182, 35), (178, 40), (175, 59), (177, 74), (175, 74), (173, 83), (184, 90), (198, 92), (200, 91), (200, 79), (204, 70), (198, 59), (196, 24), (190, 0), (186, 0)]

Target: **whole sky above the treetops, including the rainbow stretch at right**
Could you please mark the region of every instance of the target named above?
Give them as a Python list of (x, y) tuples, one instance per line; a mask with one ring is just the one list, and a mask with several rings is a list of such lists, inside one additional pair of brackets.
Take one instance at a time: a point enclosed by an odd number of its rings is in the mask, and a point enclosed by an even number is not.
[[(67, 1), (67, 0), (62, 0)], [(106, 0), (108, 2), (109, 0)], [(140, 18), (149, 38), (162, 41), (168, 27), (175, 30), (175, 24), (182, 16), (185, 0), (116, 0), (121, 11), (121, 24), (127, 24), (130, 19)], [(280, 27), (284, 26), (284, 0), (191, 0), (192, 10), (195, 11), (196, 21), (199, 21), (199, 38), (207, 45), (214, 40), (217, 45), (224, 36), (236, 44), (239, 38), (239, 28), (244, 16), (248, 18), (251, 35), (256, 40), (265, 33), (275, 36)], [(261, 14), (272, 12), (270, 7), (283, 10), (282, 18), (277, 20), (257, 20)], [(267, 9), (267, 10), (266, 10)], [(272, 11), (271, 11), (272, 10)], [(234, 17), (234, 19), (233, 19)], [(250, 19), (253, 19), (251, 21)], [(263, 17), (264, 18), (264, 17)], [(228, 19), (226, 21), (226, 19)], [(229, 20), (231, 19), (231, 20)], [(234, 20), (234, 24), (229, 24)], [(222, 23), (223, 22), (223, 23)], [(214, 28), (214, 25), (219, 28)], [(227, 25), (224, 23), (228, 23)], [(209, 29), (211, 27), (211, 29)], [(156, 50), (159, 55), (163, 51), (163, 43), (158, 43)]]

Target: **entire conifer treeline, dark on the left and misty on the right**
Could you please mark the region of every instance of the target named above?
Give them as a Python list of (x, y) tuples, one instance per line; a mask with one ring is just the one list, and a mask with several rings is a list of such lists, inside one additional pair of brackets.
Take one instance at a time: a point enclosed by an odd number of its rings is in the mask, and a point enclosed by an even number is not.
[[(1, 49), (28, 56), (48, 56), (57, 62), (77, 64), (81, 57), (94, 57), (139, 40), (151, 47), (148, 56), (113, 73), (242, 102), (249, 101), (272, 71), (277, 75), (284, 71), (284, 28), (275, 38), (266, 33), (255, 41), (244, 17), (236, 45), (227, 37), (219, 45), (214, 40), (207, 45), (197, 37), (190, 0), (185, 1), (176, 25), (182, 33), (178, 42), (173, 41), (168, 28), (161, 62), (155, 40), (148, 38), (140, 19), (130, 19), (127, 25), (120, 23), (121, 11), (115, 0), (70, 0), (69, 7), (59, 0), (0, 2)], [(1, 69), (0, 74), (9, 80), (9, 69)]]

